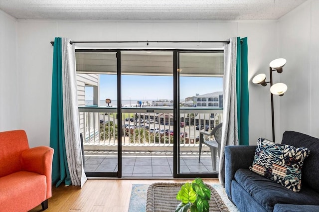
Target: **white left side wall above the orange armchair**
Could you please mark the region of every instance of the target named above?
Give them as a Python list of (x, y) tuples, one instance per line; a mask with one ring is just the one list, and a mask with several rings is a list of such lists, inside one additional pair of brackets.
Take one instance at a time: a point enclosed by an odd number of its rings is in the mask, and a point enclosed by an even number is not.
[(0, 10), (0, 131), (20, 128), (16, 20)]

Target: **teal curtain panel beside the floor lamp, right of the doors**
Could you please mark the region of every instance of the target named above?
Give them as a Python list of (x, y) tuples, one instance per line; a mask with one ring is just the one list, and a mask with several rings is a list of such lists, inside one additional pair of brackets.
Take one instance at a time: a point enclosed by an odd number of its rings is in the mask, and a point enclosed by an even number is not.
[(247, 55), (247, 37), (237, 37), (236, 90), (239, 145), (249, 145), (249, 92)]

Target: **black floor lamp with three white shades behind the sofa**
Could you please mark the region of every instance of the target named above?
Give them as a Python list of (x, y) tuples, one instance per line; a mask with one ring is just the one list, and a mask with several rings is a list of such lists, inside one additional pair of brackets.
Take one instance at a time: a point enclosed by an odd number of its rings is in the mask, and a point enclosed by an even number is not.
[(284, 83), (276, 83), (273, 85), (273, 71), (277, 73), (283, 72), (283, 67), (286, 64), (286, 59), (278, 58), (269, 63), (269, 75), (270, 81), (266, 82), (266, 75), (259, 74), (253, 78), (254, 84), (260, 84), (262, 86), (267, 86), (270, 83), (270, 98), (271, 98), (271, 120), (272, 120), (272, 130), (273, 130), (273, 142), (275, 142), (275, 120), (274, 120), (274, 95), (283, 96), (287, 91), (287, 85)]

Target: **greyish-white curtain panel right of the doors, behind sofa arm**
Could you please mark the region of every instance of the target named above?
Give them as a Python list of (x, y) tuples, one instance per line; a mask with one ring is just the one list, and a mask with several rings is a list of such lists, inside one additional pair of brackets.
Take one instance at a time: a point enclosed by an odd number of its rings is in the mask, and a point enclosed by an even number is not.
[(219, 159), (219, 182), (225, 183), (225, 154), (228, 145), (238, 145), (237, 97), (236, 97), (237, 37), (231, 37), (224, 47), (224, 103), (223, 128)]

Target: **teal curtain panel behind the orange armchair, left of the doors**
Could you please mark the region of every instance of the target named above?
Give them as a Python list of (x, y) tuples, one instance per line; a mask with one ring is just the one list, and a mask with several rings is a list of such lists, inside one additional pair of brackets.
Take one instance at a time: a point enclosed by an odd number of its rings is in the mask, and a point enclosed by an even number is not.
[(64, 139), (61, 43), (60, 37), (54, 39), (52, 69), (50, 147), (54, 149), (52, 184), (56, 187), (62, 182), (65, 185), (71, 185)]

